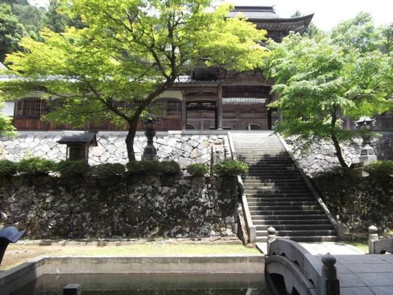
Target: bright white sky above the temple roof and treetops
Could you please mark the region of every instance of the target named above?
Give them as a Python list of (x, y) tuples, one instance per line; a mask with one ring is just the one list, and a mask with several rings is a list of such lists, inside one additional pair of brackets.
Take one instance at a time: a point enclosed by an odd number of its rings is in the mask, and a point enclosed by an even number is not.
[[(29, 0), (45, 6), (49, 0)], [(377, 25), (393, 23), (393, 0), (229, 0), (234, 5), (276, 6), (280, 17), (290, 17), (296, 10), (314, 13), (314, 24), (324, 30), (355, 17), (359, 12), (371, 13)]]

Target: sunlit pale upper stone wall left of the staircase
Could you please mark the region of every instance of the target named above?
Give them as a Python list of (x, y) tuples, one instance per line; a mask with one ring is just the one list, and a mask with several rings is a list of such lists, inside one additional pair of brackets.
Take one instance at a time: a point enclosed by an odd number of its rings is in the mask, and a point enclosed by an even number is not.
[[(15, 139), (3, 138), (0, 141), (0, 158), (18, 161), (23, 157), (38, 156), (55, 161), (64, 160), (66, 146), (57, 144), (57, 141), (66, 134), (66, 131), (22, 131)], [(89, 149), (89, 164), (127, 163), (126, 135), (126, 132), (98, 132), (98, 147)], [(226, 134), (157, 132), (154, 145), (160, 159), (173, 159), (182, 169), (191, 163), (210, 164), (212, 150), (215, 161), (230, 158)], [(138, 132), (134, 142), (137, 160), (140, 160), (145, 146), (146, 137)]]

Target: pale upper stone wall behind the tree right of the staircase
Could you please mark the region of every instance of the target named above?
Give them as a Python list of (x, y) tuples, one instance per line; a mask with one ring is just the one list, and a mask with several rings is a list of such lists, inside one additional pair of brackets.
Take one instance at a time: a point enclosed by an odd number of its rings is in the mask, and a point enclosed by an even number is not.
[[(378, 159), (393, 159), (393, 133), (380, 132), (381, 136), (372, 140), (372, 147)], [(307, 152), (300, 152), (301, 142), (294, 138), (285, 139), (294, 160), (309, 177), (316, 177), (340, 169), (336, 150), (333, 143), (320, 141), (312, 145)], [(362, 149), (362, 139), (354, 138), (352, 141), (341, 144), (342, 153), (348, 165), (359, 162)]]

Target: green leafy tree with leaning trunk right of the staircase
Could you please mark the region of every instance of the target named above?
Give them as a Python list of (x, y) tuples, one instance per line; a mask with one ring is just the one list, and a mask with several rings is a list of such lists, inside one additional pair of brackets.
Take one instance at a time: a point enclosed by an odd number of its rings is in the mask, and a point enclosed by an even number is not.
[(371, 117), (393, 108), (393, 61), (375, 45), (377, 29), (365, 20), (360, 15), (344, 22), (330, 36), (292, 33), (281, 44), (272, 42), (265, 67), (279, 94), (271, 106), (283, 114), (277, 130), (299, 136), (306, 147), (331, 140), (344, 171), (349, 167), (340, 143), (354, 132), (341, 128), (341, 118)]

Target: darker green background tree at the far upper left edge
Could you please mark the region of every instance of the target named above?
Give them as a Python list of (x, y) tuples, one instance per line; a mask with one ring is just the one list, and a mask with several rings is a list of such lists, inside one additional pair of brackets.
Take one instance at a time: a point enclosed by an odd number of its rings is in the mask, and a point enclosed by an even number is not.
[(7, 53), (18, 50), (25, 29), (19, 23), (18, 17), (12, 13), (11, 6), (0, 4), (0, 61)]

